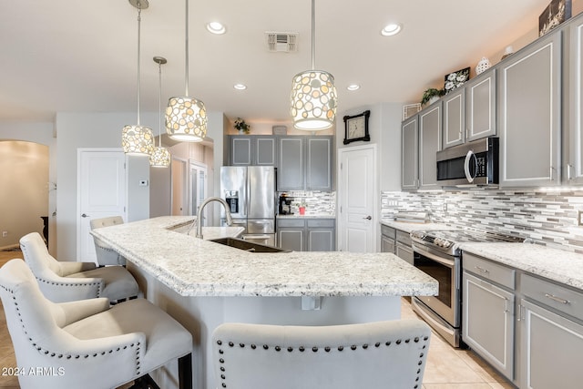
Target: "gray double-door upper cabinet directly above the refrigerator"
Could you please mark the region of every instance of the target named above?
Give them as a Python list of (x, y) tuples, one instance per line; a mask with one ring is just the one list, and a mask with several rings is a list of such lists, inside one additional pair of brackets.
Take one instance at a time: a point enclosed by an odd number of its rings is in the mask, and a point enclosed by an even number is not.
[(250, 135), (230, 136), (230, 166), (276, 166), (276, 138)]

